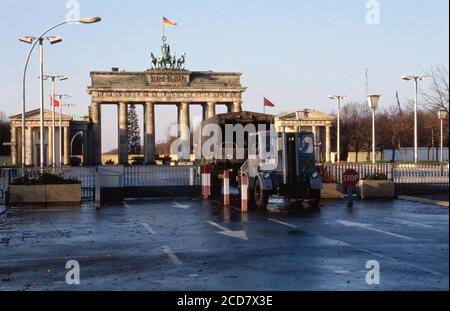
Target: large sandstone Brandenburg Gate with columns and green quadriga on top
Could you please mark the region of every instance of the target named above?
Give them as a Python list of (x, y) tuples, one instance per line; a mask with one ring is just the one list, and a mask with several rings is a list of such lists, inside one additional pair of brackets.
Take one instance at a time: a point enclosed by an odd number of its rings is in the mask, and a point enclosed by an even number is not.
[[(157, 59), (151, 54), (152, 68), (144, 72), (91, 72), (90, 116), (92, 122), (92, 164), (101, 164), (102, 105), (116, 105), (118, 110), (118, 159), (128, 162), (128, 105), (144, 106), (144, 163), (155, 161), (155, 106), (176, 105), (178, 108), (179, 137), (189, 145), (190, 105), (203, 107), (203, 119), (216, 114), (217, 105), (226, 105), (228, 112), (242, 110), (240, 73), (188, 71), (184, 69), (186, 55), (177, 59), (170, 46), (161, 46)], [(108, 122), (108, 120), (103, 120)]]

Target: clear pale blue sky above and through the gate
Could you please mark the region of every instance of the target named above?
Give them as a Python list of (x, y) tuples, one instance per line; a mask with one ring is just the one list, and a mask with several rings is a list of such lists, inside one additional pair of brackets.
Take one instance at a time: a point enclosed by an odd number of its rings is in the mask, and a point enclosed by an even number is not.
[[(8, 115), (21, 111), (27, 46), (17, 38), (64, 20), (66, 2), (0, 1), (0, 110)], [(150, 52), (159, 51), (162, 15), (179, 24), (167, 37), (174, 51), (187, 53), (187, 69), (243, 73), (246, 110), (260, 111), (265, 94), (276, 104), (273, 113), (305, 107), (332, 112), (328, 94), (364, 98), (366, 67), (370, 91), (383, 95), (382, 105), (390, 105), (396, 90), (403, 99), (411, 97), (412, 86), (400, 80), (403, 73), (448, 67), (449, 62), (447, 0), (379, 0), (378, 25), (366, 23), (366, 0), (78, 2), (81, 16), (98, 15), (103, 21), (60, 28), (52, 34), (64, 42), (46, 45), (45, 51), (46, 73), (70, 77), (58, 88), (73, 95), (70, 102), (77, 106), (71, 110), (77, 114), (87, 113), (90, 71), (150, 67)], [(30, 109), (39, 106), (37, 60), (36, 53), (28, 78)], [(157, 140), (175, 122), (175, 112), (174, 107), (157, 109)], [(116, 118), (112, 107), (104, 115)], [(115, 121), (103, 134), (103, 149), (115, 147)]]

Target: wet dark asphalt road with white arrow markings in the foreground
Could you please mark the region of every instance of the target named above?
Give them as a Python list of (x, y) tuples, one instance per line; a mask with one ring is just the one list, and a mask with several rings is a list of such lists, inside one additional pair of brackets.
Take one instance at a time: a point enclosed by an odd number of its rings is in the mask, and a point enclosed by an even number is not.
[[(1, 290), (448, 290), (449, 215), (403, 201), (320, 214), (200, 200), (0, 216)], [(67, 285), (68, 260), (81, 284)], [(366, 263), (380, 264), (380, 285)]]

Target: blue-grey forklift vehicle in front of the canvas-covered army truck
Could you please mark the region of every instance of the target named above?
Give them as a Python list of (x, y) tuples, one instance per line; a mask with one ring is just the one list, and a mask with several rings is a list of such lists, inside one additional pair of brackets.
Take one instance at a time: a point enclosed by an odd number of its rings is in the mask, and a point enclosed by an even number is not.
[[(249, 200), (266, 208), (270, 195), (294, 202), (307, 202), (319, 209), (322, 178), (316, 172), (314, 135), (312, 133), (259, 132), (250, 156), (241, 167), (249, 178)], [(269, 147), (270, 148), (267, 148)], [(270, 152), (266, 153), (270, 149)], [(272, 153), (274, 152), (274, 153)], [(272, 155), (272, 156), (263, 156)]]

